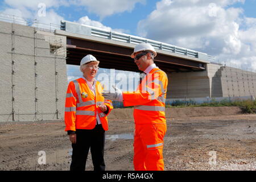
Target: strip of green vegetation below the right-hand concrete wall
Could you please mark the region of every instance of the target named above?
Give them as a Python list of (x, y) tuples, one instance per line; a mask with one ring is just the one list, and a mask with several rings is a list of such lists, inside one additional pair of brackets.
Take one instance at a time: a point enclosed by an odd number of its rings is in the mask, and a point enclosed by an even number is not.
[(166, 107), (204, 107), (204, 106), (210, 106), (210, 107), (220, 107), (220, 106), (238, 106), (242, 109), (243, 113), (254, 113), (256, 114), (256, 100), (245, 100), (245, 101), (229, 101), (229, 100), (222, 100), (222, 101), (216, 101), (211, 100), (209, 102), (204, 102), (202, 104), (196, 104), (193, 100), (188, 101), (174, 101), (171, 104), (166, 103)]

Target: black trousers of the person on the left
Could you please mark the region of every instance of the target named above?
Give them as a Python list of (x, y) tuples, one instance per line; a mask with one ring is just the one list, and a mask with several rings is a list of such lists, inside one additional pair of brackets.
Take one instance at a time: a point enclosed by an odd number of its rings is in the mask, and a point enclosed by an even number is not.
[(84, 171), (89, 148), (94, 171), (105, 171), (104, 162), (105, 130), (96, 125), (92, 130), (76, 130), (76, 143), (72, 143), (71, 171)]

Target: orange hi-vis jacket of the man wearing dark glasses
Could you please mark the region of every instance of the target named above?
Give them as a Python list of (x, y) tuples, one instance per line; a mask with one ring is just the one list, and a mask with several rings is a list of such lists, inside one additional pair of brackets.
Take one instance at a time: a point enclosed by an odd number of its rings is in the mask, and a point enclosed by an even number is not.
[(139, 84), (135, 92), (123, 92), (123, 105), (134, 106), (135, 124), (166, 123), (165, 102), (168, 78), (154, 68)]

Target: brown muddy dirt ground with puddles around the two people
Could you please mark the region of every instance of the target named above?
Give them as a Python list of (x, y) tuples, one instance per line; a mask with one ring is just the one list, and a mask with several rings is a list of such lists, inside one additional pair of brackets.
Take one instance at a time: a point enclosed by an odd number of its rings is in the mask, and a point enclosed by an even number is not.
[[(212, 109), (211, 116), (195, 116), (202, 114), (177, 110), (180, 114), (167, 118), (166, 170), (255, 171), (256, 114), (225, 108), (226, 115)], [(72, 147), (64, 127), (63, 121), (0, 122), (0, 170), (69, 170)], [(133, 119), (110, 117), (106, 170), (133, 170), (133, 130)], [(44, 154), (46, 164), (40, 164)], [(93, 170), (90, 154), (86, 170)]]

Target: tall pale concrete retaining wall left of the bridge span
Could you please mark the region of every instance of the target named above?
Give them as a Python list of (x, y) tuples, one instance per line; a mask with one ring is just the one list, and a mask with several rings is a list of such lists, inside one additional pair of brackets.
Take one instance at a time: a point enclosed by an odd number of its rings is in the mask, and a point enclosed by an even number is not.
[(33, 27), (0, 22), (0, 121), (63, 118), (65, 55), (50, 53), (46, 37)]

